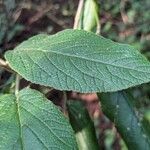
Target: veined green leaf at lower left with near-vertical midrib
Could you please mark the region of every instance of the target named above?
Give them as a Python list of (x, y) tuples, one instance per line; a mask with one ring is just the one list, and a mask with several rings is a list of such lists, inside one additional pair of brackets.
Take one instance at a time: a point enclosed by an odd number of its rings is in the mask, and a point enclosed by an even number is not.
[(40, 92), (24, 89), (0, 97), (1, 150), (73, 150), (68, 120)]

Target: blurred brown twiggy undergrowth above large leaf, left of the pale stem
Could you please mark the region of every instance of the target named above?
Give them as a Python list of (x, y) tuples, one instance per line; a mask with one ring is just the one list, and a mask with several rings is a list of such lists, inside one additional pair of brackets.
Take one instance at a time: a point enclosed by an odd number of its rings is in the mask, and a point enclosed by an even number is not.
[(0, 53), (38, 33), (71, 28), (73, 0), (0, 0)]

